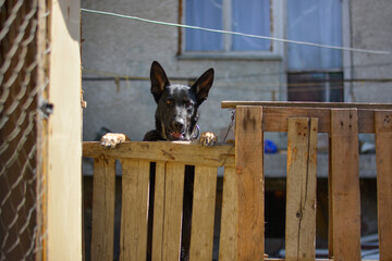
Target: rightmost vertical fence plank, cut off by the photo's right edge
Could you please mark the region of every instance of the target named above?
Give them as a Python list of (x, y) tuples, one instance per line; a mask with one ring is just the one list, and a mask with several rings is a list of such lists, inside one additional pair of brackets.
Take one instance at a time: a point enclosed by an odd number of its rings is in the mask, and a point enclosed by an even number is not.
[(376, 157), (380, 260), (392, 260), (392, 111), (376, 111)]

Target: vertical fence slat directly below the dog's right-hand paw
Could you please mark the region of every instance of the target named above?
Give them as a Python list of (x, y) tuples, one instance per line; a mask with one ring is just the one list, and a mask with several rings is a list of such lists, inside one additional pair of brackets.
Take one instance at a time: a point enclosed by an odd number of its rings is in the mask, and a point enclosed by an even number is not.
[(212, 260), (217, 167), (195, 166), (189, 260)]

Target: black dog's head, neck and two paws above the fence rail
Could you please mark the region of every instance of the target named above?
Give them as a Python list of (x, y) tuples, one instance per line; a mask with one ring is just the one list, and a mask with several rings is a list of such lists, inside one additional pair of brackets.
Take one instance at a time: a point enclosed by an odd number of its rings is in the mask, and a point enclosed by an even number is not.
[[(144, 141), (193, 140), (198, 137), (198, 108), (207, 99), (213, 83), (213, 69), (207, 70), (192, 87), (171, 85), (162, 66), (152, 62), (150, 71), (151, 94), (157, 102), (156, 129), (145, 134)], [(200, 144), (213, 146), (218, 138), (213, 133), (204, 133)], [(115, 148), (130, 141), (124, 134), (108, 133), (101, 146)]]

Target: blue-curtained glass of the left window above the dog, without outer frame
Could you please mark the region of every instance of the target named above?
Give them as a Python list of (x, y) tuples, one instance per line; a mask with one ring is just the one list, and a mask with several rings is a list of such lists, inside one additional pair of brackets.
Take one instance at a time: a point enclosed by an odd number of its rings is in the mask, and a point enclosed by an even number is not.
[[(271, 36), (270, 0), (185, 0), (187, 25)], [(271, 51), (270, 40), (185, 29), (185, 51)]]

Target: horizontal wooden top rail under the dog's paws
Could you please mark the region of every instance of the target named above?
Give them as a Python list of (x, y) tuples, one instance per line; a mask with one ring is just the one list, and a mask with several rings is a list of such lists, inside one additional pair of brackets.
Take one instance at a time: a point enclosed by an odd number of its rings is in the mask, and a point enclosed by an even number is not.
[(130, 158), (148, 161), (184, 162), (193, 165), (234, 166), (234, 145), (205, 147), (186, 141), (128, 141), (107, 150), (99, 142), (83, 142), (84, 157)]

